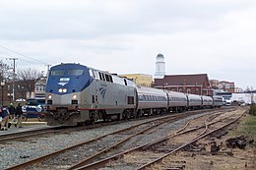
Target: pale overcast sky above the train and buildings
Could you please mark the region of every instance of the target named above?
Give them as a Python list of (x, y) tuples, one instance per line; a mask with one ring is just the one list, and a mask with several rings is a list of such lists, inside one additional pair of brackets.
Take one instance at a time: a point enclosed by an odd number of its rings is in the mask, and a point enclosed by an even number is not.
[(46, 71), (81, 63), (256, 87), (255, 0), (0, 0), (0, 60)]

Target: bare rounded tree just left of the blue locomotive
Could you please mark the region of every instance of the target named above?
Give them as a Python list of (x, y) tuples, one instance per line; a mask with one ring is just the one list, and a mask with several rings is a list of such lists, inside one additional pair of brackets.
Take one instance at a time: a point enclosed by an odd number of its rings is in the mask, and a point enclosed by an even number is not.
[(17, 80), (19, 80), (21, 83), (21, 85), (18, 85), (18, 89), (26, 89), (27, 91), (29, 91), (30, 97), (32, 97), (32, 91), (34, 90), (34, 82), (40, 77), (40, 72), (32, 68), (18, 70)]

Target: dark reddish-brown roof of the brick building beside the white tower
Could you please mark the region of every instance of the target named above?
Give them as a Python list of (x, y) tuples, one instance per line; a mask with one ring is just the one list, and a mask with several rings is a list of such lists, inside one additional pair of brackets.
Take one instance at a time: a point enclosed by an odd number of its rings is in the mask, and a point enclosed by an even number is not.
[(209, 83), (207, 74), (197, 75), (165, 75), (163, 79), (155, 79), (155, 85), (204, 85), (205, 82)]

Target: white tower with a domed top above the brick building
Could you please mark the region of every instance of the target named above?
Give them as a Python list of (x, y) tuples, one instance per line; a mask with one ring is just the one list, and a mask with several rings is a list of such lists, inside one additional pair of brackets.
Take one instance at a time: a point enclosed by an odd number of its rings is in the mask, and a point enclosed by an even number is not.
[(158, 54), (156, 62), (155, 79), (162, 79), (165, 75), (165, 63), (162, 54)]

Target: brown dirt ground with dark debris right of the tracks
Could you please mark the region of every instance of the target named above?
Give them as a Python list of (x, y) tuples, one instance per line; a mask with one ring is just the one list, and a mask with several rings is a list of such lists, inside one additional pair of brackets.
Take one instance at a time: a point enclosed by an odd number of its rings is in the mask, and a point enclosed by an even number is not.
[[(244, 112), (244, 108), (237, 111), (237, 114)], [(256, 169), (256, 139), (248, 134), (242, 134), (246, 138), (246, 146), (229, 148), (226, 140), (240, 137), (237, 128), (244, 125), (248, 115), (225, 131), (228, 133), (220, 138), (209, 137), (208, 139), (195, 143), (184, 151), (166, 157), (161, 164), (151, 169), (186, 169), (186, 170), (255, 170)], [(254, 142), (253, 142), (254, 140)], [(218, 150), (211, 150), (213, 143), (218, 146)], [(251, 142), (251, 143), (249, 143)]]

